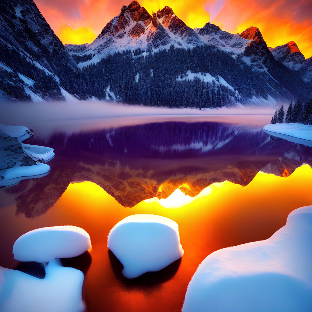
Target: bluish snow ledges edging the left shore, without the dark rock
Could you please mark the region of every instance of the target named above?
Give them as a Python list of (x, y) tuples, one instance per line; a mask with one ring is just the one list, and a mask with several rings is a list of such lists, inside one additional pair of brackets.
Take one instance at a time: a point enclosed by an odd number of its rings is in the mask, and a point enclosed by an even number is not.
[[(33, 135), (32, 131), (26, 127), (0, 124), (0, 131), (8, 134), (10, 137), (16, 138), (18, 143), (21, 144), (20, 146), (22, 147), (23, 152), (30, 157), (41, 159), (44, 162), (47, 162), (54, 157), (53, 149), (50, 147), (21, 143), (23, 140), (28, 139)], [(46, 163), (37, 163), (29, 166), (16, 163), (12, 168), (3, 169), (3, 172), (1, 173), (3, 179), (0, 180), (0, 188), (17, 184), (25, 179), (42, 177), (46, 175), (50, 169), (50, 166)]]

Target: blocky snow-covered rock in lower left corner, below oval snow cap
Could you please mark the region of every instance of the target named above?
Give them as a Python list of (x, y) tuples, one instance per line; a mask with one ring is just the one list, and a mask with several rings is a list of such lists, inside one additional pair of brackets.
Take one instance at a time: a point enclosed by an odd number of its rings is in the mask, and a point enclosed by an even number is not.
[(81, 312), (83, 273), (53, 260), (44, 279), (0, 267), (1, 312)]

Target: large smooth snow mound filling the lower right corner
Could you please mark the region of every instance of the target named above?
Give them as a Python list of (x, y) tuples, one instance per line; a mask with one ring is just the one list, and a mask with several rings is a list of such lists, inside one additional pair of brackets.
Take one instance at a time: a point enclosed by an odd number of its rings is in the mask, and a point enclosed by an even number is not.
[(207, 256), (183, 312), (308, 312), (312, 309), (312, 206), (291, 212), (265, 241)]

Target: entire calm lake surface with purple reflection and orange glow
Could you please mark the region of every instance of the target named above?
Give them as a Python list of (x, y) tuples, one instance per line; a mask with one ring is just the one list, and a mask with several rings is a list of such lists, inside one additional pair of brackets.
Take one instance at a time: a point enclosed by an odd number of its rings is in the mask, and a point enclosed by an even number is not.
[[(0, 191), (0, 266), (19, 265), (12, 246), (27, 231), (84, 228), (92, 250), (63, 263), (85, 272), (87, 311), (180, 311), (206, 256), (267, 239), (292, 210), (312, 204), (312, 149), (271, 138), (259, 127), (151, 123), (35, 134), (26, 143), (50, 146), (56, 157), (45, 177)], [(137, 213), (176, 221), (184, 256), (127, 280), (107, 235)]]

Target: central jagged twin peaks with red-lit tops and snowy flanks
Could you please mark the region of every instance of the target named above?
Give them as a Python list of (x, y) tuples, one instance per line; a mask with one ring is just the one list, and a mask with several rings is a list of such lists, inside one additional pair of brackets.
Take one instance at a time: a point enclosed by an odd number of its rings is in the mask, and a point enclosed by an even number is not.
[(90, 45), (66, 45), (66, 48), (74, 58), (81, 57), (79, 65), (83, 67), (116, 51), (142, 48), (152, 52), (172, 44), (188, 48), (202, 41), (172, 8), (164, 7), (151, 16), (138, 1), (132, 1), (121, 8), (120, 14), (107, 23)]

